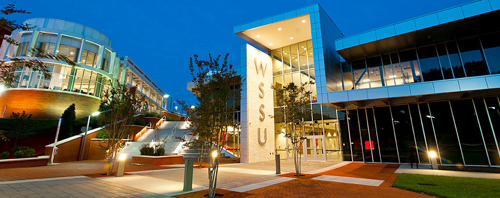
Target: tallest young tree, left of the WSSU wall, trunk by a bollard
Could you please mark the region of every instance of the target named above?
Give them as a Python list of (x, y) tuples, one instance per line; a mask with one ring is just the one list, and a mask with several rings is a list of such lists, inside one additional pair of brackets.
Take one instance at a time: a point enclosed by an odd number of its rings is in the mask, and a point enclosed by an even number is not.
[[(233, 115), (241, 99), (240, 76), (227, 63), (229, 53), (208, 59), (198, 59), (198, 55), (189, 58), (194, 87), (192, 92), (197, 100), (197, 107), (190, 108), (180, 101), (190, 118), (190, 130), (206, 146), (208, 157), (208, 196), (215, 196), (217, 185), (218, 160), (228, 127), (236, 128)], [(204, 153), (203, 153), (204, 154)]]

